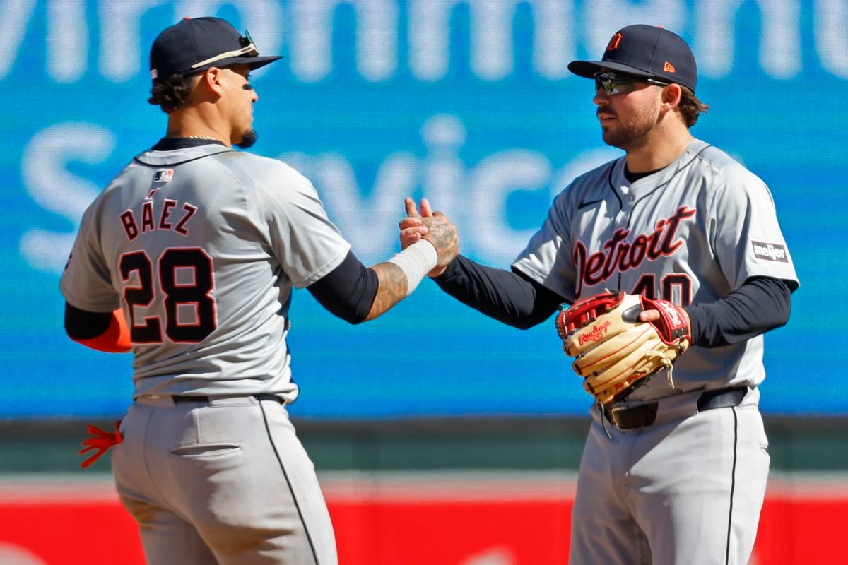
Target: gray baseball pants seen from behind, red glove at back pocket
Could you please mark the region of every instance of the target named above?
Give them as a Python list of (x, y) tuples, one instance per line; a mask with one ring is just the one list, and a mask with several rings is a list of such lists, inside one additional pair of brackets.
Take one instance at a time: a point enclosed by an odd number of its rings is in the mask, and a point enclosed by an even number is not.
[(336, 565), (315, 468), (285, 406), (137, 398), (112, 468), (151, 565)]

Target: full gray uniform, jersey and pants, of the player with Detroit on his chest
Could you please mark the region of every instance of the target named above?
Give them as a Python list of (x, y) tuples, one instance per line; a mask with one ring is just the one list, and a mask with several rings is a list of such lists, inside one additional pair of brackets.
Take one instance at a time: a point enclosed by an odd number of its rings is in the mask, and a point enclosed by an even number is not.
[[(727, 154), (695, 140), (633, 183), (625, 163), (562, 191), (514, 267), (571, 302), (615, 288), (684, 306), (757, 275), (797, 284), (771, 194)], [(748, 561), (769, 467), (755, 388), (762, 342), (691, 347), (673, 382), (654, 375), (626, 402), (591, 411), (570, 563)], [(711, 403), (719, 397), (733, 400)], [(622, 427), (610, 411), (652, 415)]]

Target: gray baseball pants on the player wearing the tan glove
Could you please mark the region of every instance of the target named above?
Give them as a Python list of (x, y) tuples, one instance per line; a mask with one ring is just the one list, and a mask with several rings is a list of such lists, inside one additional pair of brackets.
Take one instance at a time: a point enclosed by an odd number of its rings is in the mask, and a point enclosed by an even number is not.
[(654, 424), (624, 431), (592, 409), (572, 565), (748, 562), (770, 462), (759, 391), (703, 412), (699, 396), (661, 399)]

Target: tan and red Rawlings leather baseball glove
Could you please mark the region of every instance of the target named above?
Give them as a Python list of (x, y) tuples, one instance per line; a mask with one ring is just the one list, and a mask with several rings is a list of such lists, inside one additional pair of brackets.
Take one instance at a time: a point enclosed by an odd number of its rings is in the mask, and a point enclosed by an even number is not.
[[(657, 310), (660, 319), (640, 322), (639, 313)], [(609, 404), (633, 385), (665, 368), (672, 383), (672, 362), (686, 351), (692, 336), (683, 312), (665, 300), (624, 291), (590, 296), (556, 316), (556, 330), (583, 388)]]

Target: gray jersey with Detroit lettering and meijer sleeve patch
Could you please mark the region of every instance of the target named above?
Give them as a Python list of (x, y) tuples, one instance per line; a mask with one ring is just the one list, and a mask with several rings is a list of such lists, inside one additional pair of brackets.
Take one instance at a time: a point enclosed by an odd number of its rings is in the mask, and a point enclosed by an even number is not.
[[(761, 275), (797, 282), (774, 202), (755, 174), (704, 141), (632, 184), (625, 158), (589, 171), (554, 200), (513, 266), (573, 302), (605, 289), (680, 306), (714, 302)], [(762, 335), (692, 347), (674, 364), (675, 389), (759, 385)], [(631, 399), (667, 396), (650, 379)]]

